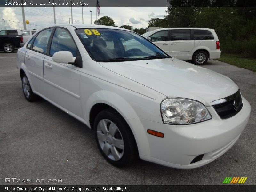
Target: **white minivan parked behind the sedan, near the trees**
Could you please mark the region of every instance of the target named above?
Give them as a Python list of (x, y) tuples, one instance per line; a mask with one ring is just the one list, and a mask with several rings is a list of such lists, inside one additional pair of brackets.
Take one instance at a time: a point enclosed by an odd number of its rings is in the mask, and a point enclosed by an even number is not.
[[(193, 60), (196, 65), (204, 65), (208, 59), (220, 58), (220, 42), (214, 29), (162, 28), (142, 36), (172, 57)], [(127, 48), (133, 47), (127, 46)]]

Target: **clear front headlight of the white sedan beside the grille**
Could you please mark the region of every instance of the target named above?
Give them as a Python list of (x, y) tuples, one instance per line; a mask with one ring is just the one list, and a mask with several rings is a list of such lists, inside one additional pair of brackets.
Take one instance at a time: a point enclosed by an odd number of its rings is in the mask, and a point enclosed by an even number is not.
[(161, 112), (166, 124), (193, 124), (212, 118), (202, 103), (188, 99), (166, 99)]

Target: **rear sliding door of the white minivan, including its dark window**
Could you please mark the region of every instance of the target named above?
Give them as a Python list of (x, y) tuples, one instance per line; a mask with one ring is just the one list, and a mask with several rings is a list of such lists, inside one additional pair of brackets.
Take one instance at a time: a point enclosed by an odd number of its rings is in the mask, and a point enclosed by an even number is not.
[(189, 59), (189, 54), (195, 46), (190, 29), (172, 29), (170, 55), (181, 60)]

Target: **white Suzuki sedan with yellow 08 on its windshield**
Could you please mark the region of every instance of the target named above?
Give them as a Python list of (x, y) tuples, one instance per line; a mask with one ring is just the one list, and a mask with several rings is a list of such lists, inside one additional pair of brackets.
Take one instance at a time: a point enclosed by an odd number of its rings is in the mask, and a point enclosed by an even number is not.
[[(133, 40), (137, 48), (125, 49)], [(251, 107), (230, 78), (172, 58), (144, 37), (100, 25), (54, 25), (18, 50), (28, 101), (39, 95), (94, 130), (102, 155), (195, 168), (238, 140)]]

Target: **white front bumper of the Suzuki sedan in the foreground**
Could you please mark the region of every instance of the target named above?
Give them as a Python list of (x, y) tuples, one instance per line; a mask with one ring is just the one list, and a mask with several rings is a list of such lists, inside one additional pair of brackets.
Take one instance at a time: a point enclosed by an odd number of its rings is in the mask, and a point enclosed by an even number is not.
[[(243, 108), (235, 116), (221, 119), (213, 107), (207, 107), (212, 119), (190, 125), (168, 125), (145, 119), (130, 119), (139, 148), (140, 158), (169, 167), (190, 169), (208, 164), (223, 155), (238, 140), (246, 127), (251, 106), (243, 99)], [(147, 129), (164, 133), (159, 138)], [(204, 154), (202, 160), (191, 161)]]

